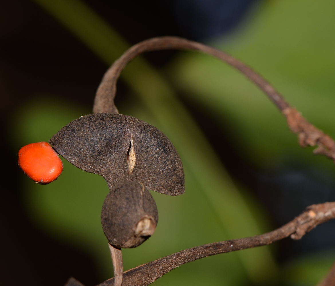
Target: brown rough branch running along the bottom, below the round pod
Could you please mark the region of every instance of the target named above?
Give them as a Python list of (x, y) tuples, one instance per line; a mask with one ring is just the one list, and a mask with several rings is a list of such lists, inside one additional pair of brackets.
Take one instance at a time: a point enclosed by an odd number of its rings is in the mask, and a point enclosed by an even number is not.
[[(127, 270), (123, 273), (122, 286), (149, 285), (178, 266), (210, 255), (268, 245), (288, 236), (294, 240), (299, 240), (314, 227), (332, 218), (335, 218), (335, 202), (311, 205), (298, 217), (271, 232), (243, 239), (216, 242), (186, 249)], [(114, 285), (114, 278), (106, 280), (97, 286), (112, 285)], [(331, 284), (321, 284), (319, 286), (330, 285)]]

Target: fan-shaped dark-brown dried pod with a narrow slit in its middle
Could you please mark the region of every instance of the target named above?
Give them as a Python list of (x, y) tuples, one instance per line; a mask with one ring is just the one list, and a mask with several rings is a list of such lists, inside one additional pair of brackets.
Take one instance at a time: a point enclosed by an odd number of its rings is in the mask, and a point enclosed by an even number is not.
[(50, 140), (76, 167), (101, 175), (110, 189), (125, 180), (167, 195), (184, 193), (184, 170), (171, 141), (135, 117), (96, 113), (80, 117)]

